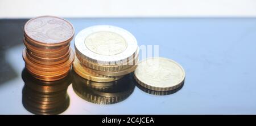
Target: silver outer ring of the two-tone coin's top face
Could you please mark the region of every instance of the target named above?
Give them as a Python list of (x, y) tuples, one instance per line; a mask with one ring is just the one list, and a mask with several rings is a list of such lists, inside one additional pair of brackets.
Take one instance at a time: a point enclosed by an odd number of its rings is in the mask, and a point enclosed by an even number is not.
[[(85, 38), (89, 36), (89, 34), (101, 31), (109, 31), (114, 32), (122, 36), (126, 42), (126, 49), (117, 55), (100, 55), (94, 53), (89, 50), (85, 45)], [(85, 57), (88, 57), (93, 60), (101, 61), (101, 62), (118, 62), (119, 60), (123, 60), (131, 57), (138, 49), (137, 40), (130, 32), (125, 29), (115, 27), (112, 25), (94, 25), (92, 27), (88, 27), (80, 31), (75, 37), (75, 48), (83, 54)]]

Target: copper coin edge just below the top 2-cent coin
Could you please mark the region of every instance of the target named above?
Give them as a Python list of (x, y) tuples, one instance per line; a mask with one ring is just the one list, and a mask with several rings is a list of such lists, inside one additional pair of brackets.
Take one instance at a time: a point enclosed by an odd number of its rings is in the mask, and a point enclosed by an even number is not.
[(30, 42), (26, 41), (25, 38), (23, 39), (24, 45), (27, 47), (27, 49), (31, 50), (34, 53), (37, 54), (43, 54), (43, 55), (55, 55), (55, 54), (61, 54), (67, 52), (69, 50), (69, 43), (65, 46), (59, 46), (59, 47), (51, 47), (49, 49), (44, 49), (43, 47), (36, 47), (34, 45), (31, 45)]

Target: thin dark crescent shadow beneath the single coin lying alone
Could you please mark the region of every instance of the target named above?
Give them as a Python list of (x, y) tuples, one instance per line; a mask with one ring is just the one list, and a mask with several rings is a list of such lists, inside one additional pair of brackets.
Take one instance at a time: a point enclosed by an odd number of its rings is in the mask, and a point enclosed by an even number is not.
[[(135, 81), (135, 80), (134, 80)], [(182, 82), (182, 84), (179, 86), (179, 88), (176, 88), (174, 90), (169, 90), (169, 91), (156, 91), (156, 90), (150, 90), (147, 88), (144, 88), (143, 86), (136, 84), (136, 86), (141, 89), (143, 92), (146, 92), (148, 94), (153, 94), (153, 95), (169, 95), (169, 94), (174, 94), (177, 91), (179, 91), (184, 85), (184, 81)]]

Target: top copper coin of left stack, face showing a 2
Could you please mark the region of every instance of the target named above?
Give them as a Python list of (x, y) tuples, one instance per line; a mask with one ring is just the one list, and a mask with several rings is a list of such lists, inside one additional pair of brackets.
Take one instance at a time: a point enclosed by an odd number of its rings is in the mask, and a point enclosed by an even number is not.
[(60, 46), (71, 41), (75, 30), (69, 21), (56, 16), (39, 16), (24, 25), (24, 34), (39, 46)]

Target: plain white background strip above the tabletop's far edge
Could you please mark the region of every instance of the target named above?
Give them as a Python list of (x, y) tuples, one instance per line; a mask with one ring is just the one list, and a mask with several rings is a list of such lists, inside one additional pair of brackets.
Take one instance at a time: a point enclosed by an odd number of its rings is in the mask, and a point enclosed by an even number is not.
[(0, 0), (0, 18), (256, 17), (256, 0)]

